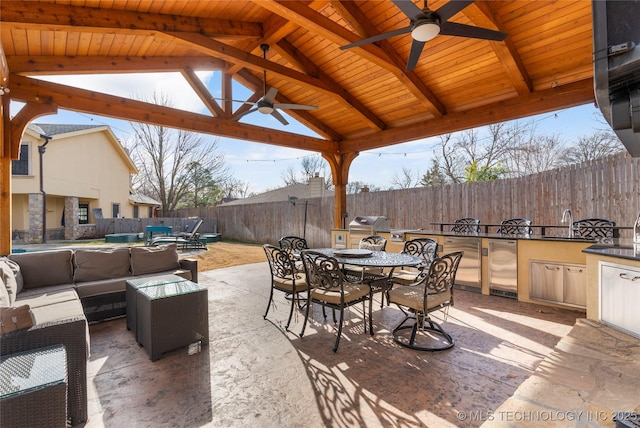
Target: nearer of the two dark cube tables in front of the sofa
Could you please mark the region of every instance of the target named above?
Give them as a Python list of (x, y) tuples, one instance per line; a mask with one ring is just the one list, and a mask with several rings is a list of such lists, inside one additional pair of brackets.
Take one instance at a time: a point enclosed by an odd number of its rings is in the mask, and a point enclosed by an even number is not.
[(183, 280), (138, 288), (138, 343), (155, 361), (162, 353), (195, 342), (209, 342), (207, 287)]

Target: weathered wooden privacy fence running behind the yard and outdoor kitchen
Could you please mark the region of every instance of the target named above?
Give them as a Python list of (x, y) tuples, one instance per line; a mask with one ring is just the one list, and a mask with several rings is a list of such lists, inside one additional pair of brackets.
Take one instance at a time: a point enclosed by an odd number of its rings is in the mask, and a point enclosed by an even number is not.
[[(451, 184), (347, 196), (344, 226), (357, 215), (382, 215), (392, 229), (434, 229), (434, 222), (477, 217), (482, 223), (500, 223), (526, 217), (534, 224), (560, 224), (570, 208), (575, 220), (607, 218), (631, 226), (640, 210), (640, 158), (626, 153), (545, 171), (526, 177), (479, 183)], [(224, 238), (256, 243), (276, 243), (283, 235), (306, 235), (314, 247), (330, 246), (333, 197), (296, 205), (288, 201), (219, 205), (191, 209), (184, 214), (217, 218)], [(628, 230), (623, 238), (631, 237)]]

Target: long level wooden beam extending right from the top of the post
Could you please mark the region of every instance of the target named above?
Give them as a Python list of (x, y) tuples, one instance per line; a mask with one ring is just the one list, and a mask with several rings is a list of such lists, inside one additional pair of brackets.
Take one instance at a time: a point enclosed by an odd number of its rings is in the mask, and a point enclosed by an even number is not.
[(427, 120), (416, 125), (388, 129), (377, 134), (344, 140), (340, 142), (340, 152), (377, 149), (419, 138), (433, 137), (561, 108), (579, 106), (594, 100), (593, 79), (584, 79), (471, 110), (450, 113), (440, 119)]

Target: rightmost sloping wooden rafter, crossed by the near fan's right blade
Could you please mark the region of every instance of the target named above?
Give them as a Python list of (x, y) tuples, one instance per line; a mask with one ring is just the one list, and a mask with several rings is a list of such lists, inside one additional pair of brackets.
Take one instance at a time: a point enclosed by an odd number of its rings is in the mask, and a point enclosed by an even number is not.
[[(490, 2), (475, 1), (464, 9), (464, 14), (473, 21), (474, 25), (502, 31), (504, 25), (493, 12)], [(507, 36), (502, 42), (489, 42), (502, 67), (509, 76), (519, 95), (533, 92), (533, 81), (520, 58), (513, 40)]]

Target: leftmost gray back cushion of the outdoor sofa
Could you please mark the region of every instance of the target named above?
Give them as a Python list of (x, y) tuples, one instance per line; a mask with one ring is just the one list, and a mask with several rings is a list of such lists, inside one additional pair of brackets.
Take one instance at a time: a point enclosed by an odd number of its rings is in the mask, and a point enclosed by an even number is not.
[(20, 265), (24, 288), (73, 282), (72, 250), (37, 251), (10, 254), (9, 258)]

